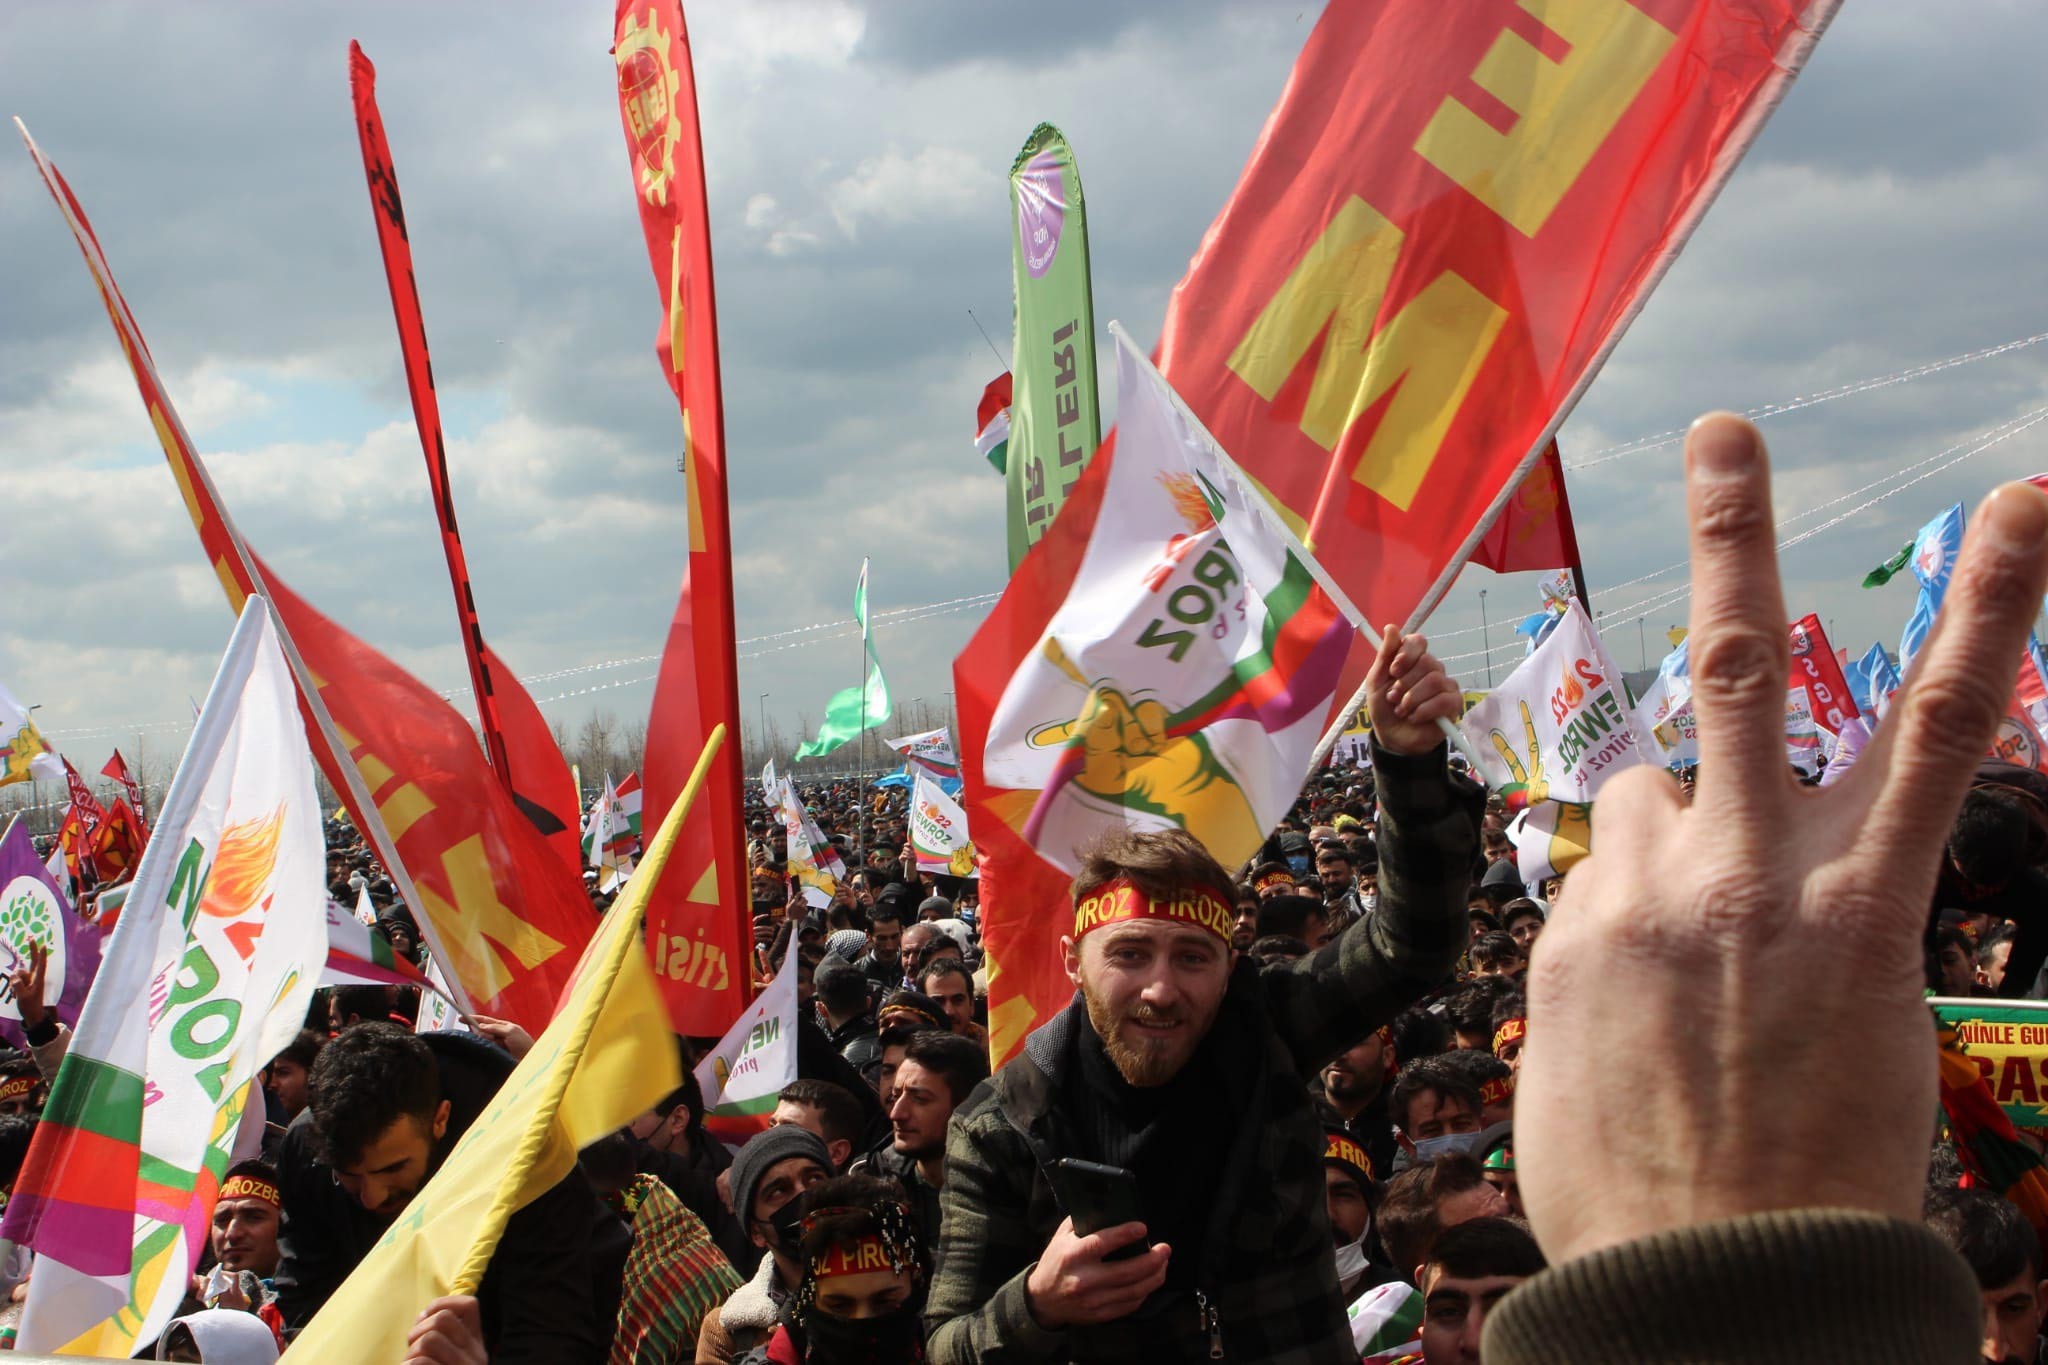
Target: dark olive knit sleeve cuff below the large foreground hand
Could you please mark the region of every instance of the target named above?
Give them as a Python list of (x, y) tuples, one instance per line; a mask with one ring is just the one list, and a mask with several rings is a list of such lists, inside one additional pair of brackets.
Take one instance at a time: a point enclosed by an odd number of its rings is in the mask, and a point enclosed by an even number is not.
[(1487, 1365), (1978, 1361), (1970, 1267), (1919, 1224), (1788, 1209), (1554, 1267), (1487, 1318)]

